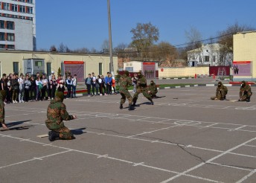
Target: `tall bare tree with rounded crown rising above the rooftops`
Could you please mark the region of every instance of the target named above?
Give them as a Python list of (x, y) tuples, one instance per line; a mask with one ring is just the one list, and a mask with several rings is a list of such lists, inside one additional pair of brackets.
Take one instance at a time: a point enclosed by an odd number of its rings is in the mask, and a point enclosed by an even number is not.
[[(159, 29), (151, 25), (151, 23), (138, 23), (136, 28), (130, 31), (132, 36), (132, 47), (136, 48), (138, 52), (145, 51), (159, 40)], [(147, 53), (147, 52), (144, 52)], [(144, 56), (147, 54), (144, 54)]]

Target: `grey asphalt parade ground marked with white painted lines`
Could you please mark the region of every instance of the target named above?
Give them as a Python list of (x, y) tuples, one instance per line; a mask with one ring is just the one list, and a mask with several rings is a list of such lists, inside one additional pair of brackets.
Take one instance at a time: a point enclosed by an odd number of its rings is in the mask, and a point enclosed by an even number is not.
[[(119, 109), (120, 94), (64, 100), (76, 139), (48, 141), (49, 100), (5, 106), (0, 182), (256, 182), (256, 98), (215, 86), (163, 89)], [(254, 92), (254, 87), (252, 88)]]

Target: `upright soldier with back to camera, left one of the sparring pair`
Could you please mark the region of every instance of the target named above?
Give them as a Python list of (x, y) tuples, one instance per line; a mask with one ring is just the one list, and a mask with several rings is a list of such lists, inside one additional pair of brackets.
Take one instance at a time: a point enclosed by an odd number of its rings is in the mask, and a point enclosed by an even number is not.
[(120, 88), (119, 92), (121, 94), (120, 109), (123, 109), (123, 104), (126, 98), (129, 100), (129, 110), (132, 110), (132, 96), (128, 92), (128, 86), (132, 85), (132, 79), (129, 77), (129, 71), (124, 71), (124, 75), (120, 77)]

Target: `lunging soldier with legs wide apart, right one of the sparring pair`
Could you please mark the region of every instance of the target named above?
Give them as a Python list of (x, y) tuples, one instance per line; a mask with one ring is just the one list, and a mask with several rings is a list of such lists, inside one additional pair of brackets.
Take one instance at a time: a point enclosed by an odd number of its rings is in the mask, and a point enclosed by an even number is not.
[(138, 94), (142, 93), (144, 97), (146, 97), (148, 100), (150, 100), (151, 105), (154, 105), (152, 97), (150, 97), (150, 94), (148, 94), (147, 91), (147, 79), (141, 74), (141, 71), (138, 72), (138, 81), (136, 86), (137, 91), (133, 95), (133, 103), (132, 106), (136, 106), (136, 102), (138, 99)]

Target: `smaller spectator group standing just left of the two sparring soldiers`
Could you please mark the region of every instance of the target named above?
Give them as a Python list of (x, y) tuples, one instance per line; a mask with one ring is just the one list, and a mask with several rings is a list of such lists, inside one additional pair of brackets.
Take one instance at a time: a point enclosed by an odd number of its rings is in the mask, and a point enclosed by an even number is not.
[[(95, 76), (95, 73), (88, 74), (85, 79), (88, 97), (98, 95), (116, 94), (115, 91), (115, 77), (107, 72), (106, 77), (103, 75)], [(113, 90), (113, 93), (112, 93)]]

